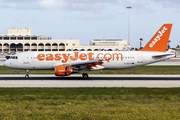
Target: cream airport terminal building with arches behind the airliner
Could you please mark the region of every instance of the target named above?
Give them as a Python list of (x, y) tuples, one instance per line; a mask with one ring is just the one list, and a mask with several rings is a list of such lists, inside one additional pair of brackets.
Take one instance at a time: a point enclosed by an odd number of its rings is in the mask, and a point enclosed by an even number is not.
[(127, 50), (126, 40), (94, 39), (91, 45), (80, 45), (78, 39), (52, 39), (32, 35), (30, 29), (8, 29), (7, 35), (0, 35), (0, 53), (16, 51), (101, 51)]

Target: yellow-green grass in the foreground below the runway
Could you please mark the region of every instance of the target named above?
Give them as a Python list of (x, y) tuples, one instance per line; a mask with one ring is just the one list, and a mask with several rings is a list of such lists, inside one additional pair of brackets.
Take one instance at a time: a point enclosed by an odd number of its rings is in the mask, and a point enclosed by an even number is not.
[(0, 119), (180, 119), (180, 88), (0, 88)]

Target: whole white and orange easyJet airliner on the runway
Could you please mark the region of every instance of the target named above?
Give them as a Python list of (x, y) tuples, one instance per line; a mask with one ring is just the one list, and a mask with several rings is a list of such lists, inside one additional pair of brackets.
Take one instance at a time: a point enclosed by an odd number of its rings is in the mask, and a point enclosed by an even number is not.
[(175, 57), (166, 51), (172, 24), (164, 24), (147, 45), (139, 51), (43, 51), (17, 53), (4, 62), (4, 66), (27, 70), (54, 70), (56, 76), (69, 76), (82, 71), (125, 69)]

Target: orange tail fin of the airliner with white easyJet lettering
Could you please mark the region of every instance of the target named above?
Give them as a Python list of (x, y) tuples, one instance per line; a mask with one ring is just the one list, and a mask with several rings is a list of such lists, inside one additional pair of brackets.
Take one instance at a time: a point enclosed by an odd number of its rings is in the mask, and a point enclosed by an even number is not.
[(139, 51), (166, 52), (172, 24), (164, 24), (147, 45)]

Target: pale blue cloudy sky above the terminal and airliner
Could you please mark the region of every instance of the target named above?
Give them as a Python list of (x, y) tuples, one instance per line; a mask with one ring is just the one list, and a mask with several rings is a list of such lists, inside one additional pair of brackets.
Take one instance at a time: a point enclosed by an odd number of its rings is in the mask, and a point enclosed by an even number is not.
[[(131, 6), (131, 9), (127, 9)], [(129, 12), (129, 17), (128, 17)], [(53, 39), (128, 40), (139, 47), (164, 23), (173, 23), (170, 46), (180, 45), (180, 0), (0, 0), (0, 34), (9, 28), (29, 28)]]

